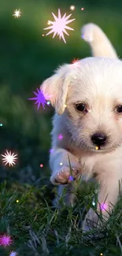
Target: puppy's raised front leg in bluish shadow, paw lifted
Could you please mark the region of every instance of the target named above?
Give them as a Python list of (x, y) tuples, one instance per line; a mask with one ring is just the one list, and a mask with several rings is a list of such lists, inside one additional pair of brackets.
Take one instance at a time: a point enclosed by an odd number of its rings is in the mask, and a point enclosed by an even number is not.
[[(52, 174), (50, 176), (50, 181), (52, 184), (60, 185), (60, 187), (58, 187), (58, 195), (55, 202), (60, 201), (60, 196), (64, 193), (63, 187), (65, 187), (64, 202), (69, 205), (72, 204), (75, 196), (75, 193), (73, 193), (75, 187), (73, 180), (76, 180), (81, 173), (81, 166), (79, 165), (79, 159), (76, 157), (75, 153), (72, 153), (70, 147), (69, 142), (71, 141), (71, 135), (66, 126), (65, 114), (61, 116), (55, 114), (53, 124), (54, 128), (51, 133), (53, 137), (53, 152), (50, 154), (50, 169), (52, 170)], [(60, 134), (62, 135), (62, 139), (58, 139)], [(70, 170), (69, 161), (72, 172)], [(61, 186), (65, 184), (67, 184), (67, 186)]]

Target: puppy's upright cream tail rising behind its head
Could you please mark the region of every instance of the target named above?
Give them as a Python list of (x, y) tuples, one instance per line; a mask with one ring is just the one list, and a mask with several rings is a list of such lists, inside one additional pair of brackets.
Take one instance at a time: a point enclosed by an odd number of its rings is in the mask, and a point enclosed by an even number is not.
[(96, 24), (85, 24), (81, 29), (81, 37), (90, 44), (92, 56), (118, 58), (109, 39)]

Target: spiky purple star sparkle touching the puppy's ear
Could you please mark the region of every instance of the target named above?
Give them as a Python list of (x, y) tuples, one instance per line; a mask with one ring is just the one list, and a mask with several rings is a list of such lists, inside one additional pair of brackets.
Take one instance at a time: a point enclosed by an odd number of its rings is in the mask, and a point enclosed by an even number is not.
[(46, 102), (47, 97), (46, 97), (46, 95), (44, 96), (44, 95), (43, 95), (43, 91), (39, 90), (38, 88), (37, 88), (37, 91), (38, 91), (38, 92), (33, 91), (33, 93), (36, 95), (35, 98), (28, 98), (28, 99), (31, 100), (31, 101), (32, 101), (32, 100), (36, 100), (35, 104), (38, 103), (37, 109), (39, 109), (39, 106), (40, 106), (41, 104), (42, 104), (42, 106), (43, 106), (43, 109), (45, 109), (45, 104), (47, 104), (47, 102)]

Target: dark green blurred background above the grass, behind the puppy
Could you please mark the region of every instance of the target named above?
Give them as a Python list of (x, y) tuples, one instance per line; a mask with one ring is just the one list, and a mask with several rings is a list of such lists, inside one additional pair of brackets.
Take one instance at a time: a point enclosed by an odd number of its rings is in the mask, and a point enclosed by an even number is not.
[[(76, 6), (74, 11), (69, 7)], [(81, 11), (81, 8), (84, 8)], [(42, 36), (47, 21), (57, 16), (72, 13), (76, 18), (65, 35), (66, 44), (52, 34)], [(13, 11), (20, 9), (19, 19)], [(74, 58), (91, 55), (87, 43), (80, 38), (83, 24), (94, 22), (108, 35), (122, 56), (122, 1), (65, 1), (65, 0), (0, 0), (0, 154), (6, 150), (17, 152), (17, 165), (2, 165), (0, 158), (0, 181), (34, 184), (39, 178), (46, 178), (50, 169), (51, 117), (54, 109), (37, 105), (28, 98), (33, 91), (51, 76), (54, 69), (63, 63), (71, 63)], [(43, 168), (40, 167), (43, 164)]]

